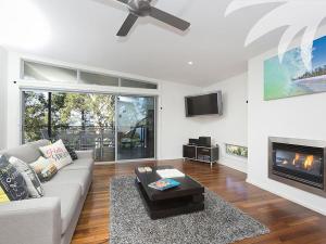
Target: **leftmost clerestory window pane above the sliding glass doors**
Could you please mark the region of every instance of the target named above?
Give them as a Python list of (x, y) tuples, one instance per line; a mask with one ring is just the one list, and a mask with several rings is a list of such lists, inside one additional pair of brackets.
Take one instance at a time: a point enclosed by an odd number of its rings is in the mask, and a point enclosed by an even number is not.
[(77, 81), (77, 70), (24, 61), (22, 78), (43, 81)]

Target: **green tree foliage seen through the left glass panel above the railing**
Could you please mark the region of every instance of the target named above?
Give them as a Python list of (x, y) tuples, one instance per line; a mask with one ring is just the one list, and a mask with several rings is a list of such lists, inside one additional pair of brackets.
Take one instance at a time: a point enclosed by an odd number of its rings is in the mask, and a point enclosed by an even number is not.
[(51, 131), (74, 126), (113, 128), (114, 95), (26, 91), (24, 139), (35, 141), (48, 127), (48, 103), (51, 95)]

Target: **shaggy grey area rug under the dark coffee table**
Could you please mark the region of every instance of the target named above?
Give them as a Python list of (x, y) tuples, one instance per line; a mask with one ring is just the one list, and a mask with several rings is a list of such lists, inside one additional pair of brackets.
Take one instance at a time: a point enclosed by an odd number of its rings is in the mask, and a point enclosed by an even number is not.
[(205, 189), (200, 213), (151, 220), (135, 177), (111, 180), (110, 244), (227, 244), (268, 233), (258, 220)]

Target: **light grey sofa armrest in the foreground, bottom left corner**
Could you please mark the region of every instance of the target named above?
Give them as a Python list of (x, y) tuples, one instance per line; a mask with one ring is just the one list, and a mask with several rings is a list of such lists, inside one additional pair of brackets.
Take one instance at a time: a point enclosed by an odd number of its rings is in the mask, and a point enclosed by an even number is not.
[(60, 198), (0, 204), (0, 233), (1, 243), (5, 244), (60, 244)]

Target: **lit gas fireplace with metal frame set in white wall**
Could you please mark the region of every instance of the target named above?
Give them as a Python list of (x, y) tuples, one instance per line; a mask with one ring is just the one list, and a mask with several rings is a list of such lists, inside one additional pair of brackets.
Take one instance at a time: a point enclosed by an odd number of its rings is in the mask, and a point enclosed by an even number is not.
[(269, 138), (271, 179), (326, 196), (326, 142)]

